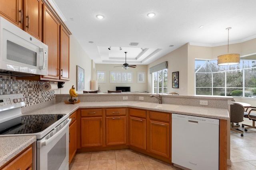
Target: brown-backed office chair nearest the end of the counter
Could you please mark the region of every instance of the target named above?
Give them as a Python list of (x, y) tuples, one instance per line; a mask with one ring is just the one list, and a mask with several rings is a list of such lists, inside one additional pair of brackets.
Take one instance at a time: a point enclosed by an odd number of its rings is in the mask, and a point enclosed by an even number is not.
[(234, 123), (239, 123), (242, 121), (244, 121), (244, 106), (240, 104), (231, 104), (230, 105), (230, 122), (231, 122), (230, 130), (235, 131), (237, 133), (241, 133), (241, 137), (244, 136), (244, 131), (238, 129), (238, 127), (240, 127), (239, 124), (234, 125)]

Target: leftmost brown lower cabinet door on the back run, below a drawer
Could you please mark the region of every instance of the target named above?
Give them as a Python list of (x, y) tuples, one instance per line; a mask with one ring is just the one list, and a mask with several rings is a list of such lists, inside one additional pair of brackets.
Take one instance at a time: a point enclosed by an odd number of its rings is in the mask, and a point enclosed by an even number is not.
[(103, 145), (102, 117), (81, 118), (81, 146), (96, 147)]

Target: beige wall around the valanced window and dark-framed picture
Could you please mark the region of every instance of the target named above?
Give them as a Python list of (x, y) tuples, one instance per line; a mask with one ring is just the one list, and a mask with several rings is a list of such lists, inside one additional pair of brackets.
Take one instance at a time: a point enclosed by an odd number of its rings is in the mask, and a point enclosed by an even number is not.
[[(149, 68), (168, 61), (168, 92), (187, 95), (188, 89), (188, 44), (164, 55), (160, 59), (148, 64)], [(172, 88), (172, 72), (179, 72), (179, 88)], [(148, 74), (148, 92), (152, 93), (152, 74)]]

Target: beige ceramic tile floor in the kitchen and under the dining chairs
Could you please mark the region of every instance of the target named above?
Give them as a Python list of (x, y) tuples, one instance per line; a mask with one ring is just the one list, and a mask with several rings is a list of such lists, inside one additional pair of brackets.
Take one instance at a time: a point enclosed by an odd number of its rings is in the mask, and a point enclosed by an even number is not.
[[(252, 121), (244, 118), (244, 124)], [(239, 123), (242, 125), (242, 123)], [(239, 127), (239, 129), (244, 129)], [(232, 166), (227, 170), (256, 170), (256, 129), (248, 129), (244, 137), (230, 132)], [(70, 170), (177, 170), (179, 168), (130, 149), (76, 153)]]

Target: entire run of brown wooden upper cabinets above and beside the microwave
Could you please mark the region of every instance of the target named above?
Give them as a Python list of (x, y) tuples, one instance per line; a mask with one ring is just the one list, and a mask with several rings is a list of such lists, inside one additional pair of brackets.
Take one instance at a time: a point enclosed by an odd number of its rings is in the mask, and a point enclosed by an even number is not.
[(69, 81), (71, 33), (46, 0), (1, 0), (0, 16), (48, 45), (48, 75), (17, 79)]

